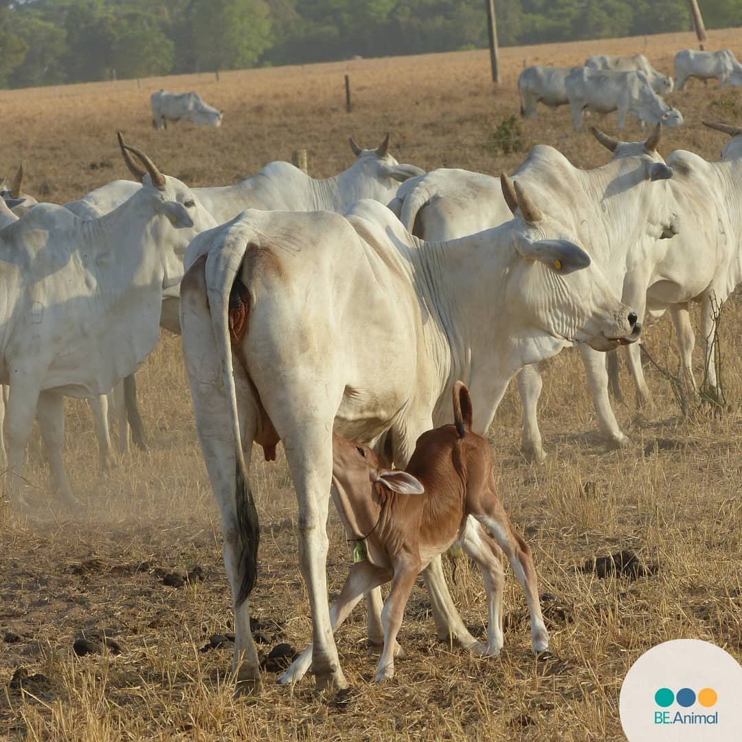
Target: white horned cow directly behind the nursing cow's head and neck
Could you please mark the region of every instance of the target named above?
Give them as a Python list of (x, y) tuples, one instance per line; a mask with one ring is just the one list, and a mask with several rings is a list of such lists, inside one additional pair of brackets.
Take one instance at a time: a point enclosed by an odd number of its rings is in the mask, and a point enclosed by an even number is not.
[[(544, 211), (562, 206), (560, 218), (594, 250), (618, 295), (627, 290), (625, 278), (634, 260), (655, 238), (670, 237), (677, 229), (672, 200), (663, 181), (672, 175), (657, 154), (660, 127), (646, 142), (615, 142), (594, 129), (614, 162), (592, 170), (575, 168), (551, 147), (533, 148), (514, 177), (525, 185)], [(450, 240), (502, 224), (508, 208), (496, 178), (464, 170), (434, 170), (400, 186), (393, 210), (407, 229), (424, 240)], [(627, 219), (627, 215), (631, 218)], [(666, 243), (660, 245), (662, 252)], [(631, 294), (633, 296), (633, 294)], [(626, 298), (624, 301), (627, 301)], [(632, 301), (634, 299), (632, 298)], [(631, 303), (631, 302), (628, 302)], [(631, 306), (634, 306), (631, 303)], [(640, 317), (641, 320), (641, 317)], [(609, 447), (628, 444), (608, 398), (602, 356), (581, 347), (600, 433)], [(536, 461), (545, 459), (536, 416), (541, 379), (535, 367), (522, 370), (518, 388), (523, 404), (522, 449)]]

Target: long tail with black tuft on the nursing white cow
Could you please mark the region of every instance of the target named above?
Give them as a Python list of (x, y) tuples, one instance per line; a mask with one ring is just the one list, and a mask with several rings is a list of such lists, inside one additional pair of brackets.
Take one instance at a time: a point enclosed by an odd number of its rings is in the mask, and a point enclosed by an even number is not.
[[(257, 520), (255, 501), (252, 499), (240, 439), (229, 327), (230, 294), (240, 273), (245, 249), (246, 244), (243, 239), (229, 240), (228, 237), (220, 245), (220, 249), (210, 251), (206, 258), (206, 292), (209, 297), (211, 324), (214, 328), (217, 351), (223, 363), (224, 392), (229, 404), (234, 439), (234, 506), (237, 533), (240, 539), (240, 558), (237, 567), (240, 575), (240, 590), (237, 594), (237, 605), (242, 605), (252, 592), (252, 588), (255, 587), (257, 547), (260, 542), (260, 524)], [(248, 295), (248, 306), (250, 299)]]

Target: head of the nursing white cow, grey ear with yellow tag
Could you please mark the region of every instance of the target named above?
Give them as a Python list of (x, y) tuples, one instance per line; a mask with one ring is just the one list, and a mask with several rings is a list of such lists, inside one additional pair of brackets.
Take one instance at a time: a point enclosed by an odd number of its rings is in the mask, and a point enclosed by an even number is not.
[(577, 236), (544, 214), (519, 183), (505, 174), (500, 180), (516, 217), (505, 292), (513, 324), (603, 351), (637, 341), (636, 312), (618, 300)]

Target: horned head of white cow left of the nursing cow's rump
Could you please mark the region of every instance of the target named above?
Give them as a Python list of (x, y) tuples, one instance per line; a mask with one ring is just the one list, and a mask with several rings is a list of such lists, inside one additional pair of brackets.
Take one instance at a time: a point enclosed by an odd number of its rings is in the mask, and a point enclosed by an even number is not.
[[(128, 168), (142, 181), (142, 189), (135, 197), (148, 203), (155, 215), (163, 217), (151, 225), (151, 240), (164, 269), (162, 287), (174, 288), (183, 278), (183, 257), (188, 243), (217, 223), (185, 183), (163, 175), (144, 152), (125, 144), (120, 132), (118, 137)], [(177, 295), (177, 290), (171, 294)]]

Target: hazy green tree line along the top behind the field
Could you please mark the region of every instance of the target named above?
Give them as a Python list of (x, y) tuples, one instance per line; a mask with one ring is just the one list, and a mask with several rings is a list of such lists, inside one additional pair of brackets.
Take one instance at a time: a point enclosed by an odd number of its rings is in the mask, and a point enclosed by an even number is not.
[[(501, 45), (689, 30), (687, 0), (496, 0)], [(708, 28), (741, 0), (701, 0)], [(483, 0), (0, 0), (0, 87), (487, 46)]]

